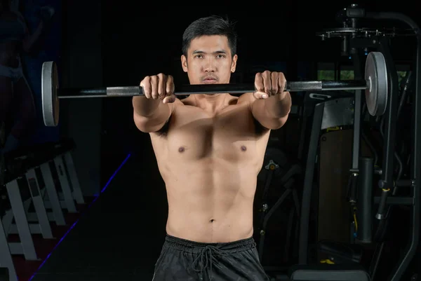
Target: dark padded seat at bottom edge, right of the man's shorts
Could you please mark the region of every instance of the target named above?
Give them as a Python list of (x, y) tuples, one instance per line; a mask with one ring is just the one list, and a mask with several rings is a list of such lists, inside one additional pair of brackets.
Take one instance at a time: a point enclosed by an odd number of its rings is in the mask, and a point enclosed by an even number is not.
[(369, 281), (370, 276), (359, 264), (292, 266), (288, 272), (290, 281)]

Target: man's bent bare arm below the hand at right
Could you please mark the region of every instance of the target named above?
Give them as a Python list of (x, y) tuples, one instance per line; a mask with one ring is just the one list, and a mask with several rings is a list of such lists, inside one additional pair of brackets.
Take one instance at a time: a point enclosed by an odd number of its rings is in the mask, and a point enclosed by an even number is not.
[(263, 127), (277, 130), (288, 120), (292, 104), (289, 92), (282, 92), (262, 100), (256, 99), (253, 94), (249, 97), (250, 111)]

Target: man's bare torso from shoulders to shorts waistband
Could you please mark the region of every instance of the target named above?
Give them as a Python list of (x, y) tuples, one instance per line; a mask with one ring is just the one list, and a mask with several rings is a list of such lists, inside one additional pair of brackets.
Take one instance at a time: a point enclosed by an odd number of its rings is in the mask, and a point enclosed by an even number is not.
[(166, 184), (169, 235), (230, 242), (253, 235), (253, 200), (270, 130), (250, 111), (247, 94), (227, 95), (215, 112), (194, 97), (177, 100), (163, 131), (151, 133)]

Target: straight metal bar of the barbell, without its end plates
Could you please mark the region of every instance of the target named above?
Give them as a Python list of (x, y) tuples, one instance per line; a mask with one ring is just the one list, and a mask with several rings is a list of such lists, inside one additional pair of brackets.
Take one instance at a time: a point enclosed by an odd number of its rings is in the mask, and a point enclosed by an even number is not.
[[(302, 92), (307, 90), (365, 90), (365, 80), (351, 81), (293, 81), (286, 82), (286, 92)], [(243, 94), (254, 92), (254, 84), (228, 83), (228, 84), (192, 84), (175, 86), (175, 95), (192, 94), (218, 94), (229, 92), (231, 94)], [(74, 99), (86, 97), (133, 97), (143, 95), (142, 87), (100, 87), (100, 88), (58, 88), (57, 95), (60, 99)]]

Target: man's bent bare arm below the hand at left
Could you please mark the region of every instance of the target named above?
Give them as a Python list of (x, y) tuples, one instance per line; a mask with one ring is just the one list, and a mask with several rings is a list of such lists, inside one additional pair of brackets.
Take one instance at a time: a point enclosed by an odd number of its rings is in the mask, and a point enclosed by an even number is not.
[(164, 104), (161, 100), (146, 97), (133, 97), (133, 119), (136, 127), (142, 132), (157, 132), (173, 113), (175, 103)]

